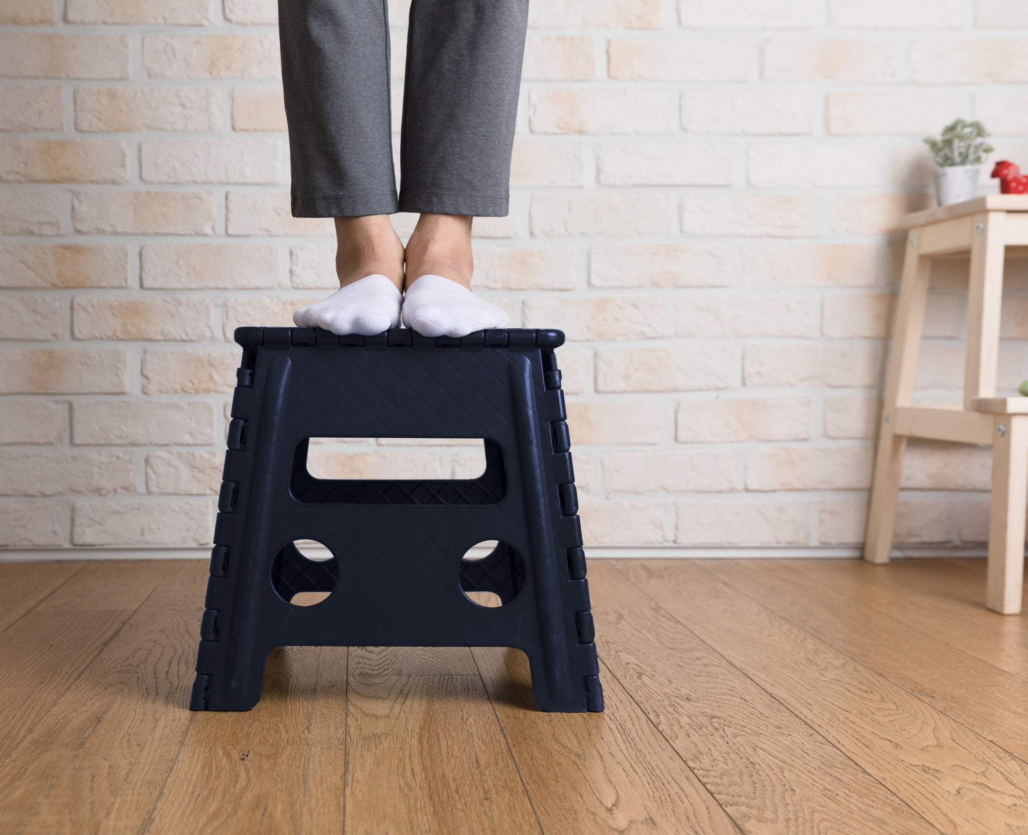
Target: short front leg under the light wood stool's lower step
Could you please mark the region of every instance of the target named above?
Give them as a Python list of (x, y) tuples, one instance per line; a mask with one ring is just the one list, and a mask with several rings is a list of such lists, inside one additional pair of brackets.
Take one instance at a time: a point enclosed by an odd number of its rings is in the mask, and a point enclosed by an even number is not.
[(1028, 502), (1028, 414), (997, 419), (992, 451), (989, 510), (989, 580), (985, 605), (993, 612), (1021, 612)]

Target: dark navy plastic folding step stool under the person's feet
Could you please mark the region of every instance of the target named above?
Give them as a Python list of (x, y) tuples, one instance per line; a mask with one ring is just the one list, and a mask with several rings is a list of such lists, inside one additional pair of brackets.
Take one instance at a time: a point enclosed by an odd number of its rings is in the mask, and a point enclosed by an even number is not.
[[(280, 646), (517, 647), (545, 711), (603, 710), (557, 330), (237, 328), (194, 711), (247, 711)], [(323, 480), (310, 438), (482, 438), (468, 480)], [(332, 558), (294, 545), (317, 540)], [(482, 559), (473, 545), (497, 540)], [(289, 603), (330, 591), (321, 603)], [(465, 591), (491, 591), (486, 608)]]

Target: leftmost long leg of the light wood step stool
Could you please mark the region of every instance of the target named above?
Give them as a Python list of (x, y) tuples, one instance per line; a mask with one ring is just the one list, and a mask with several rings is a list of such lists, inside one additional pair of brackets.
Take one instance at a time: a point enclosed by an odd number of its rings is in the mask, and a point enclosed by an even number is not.
[(885, 386), (885, 406), (882, 410), (875, 478), (871, 485), (871, 507), (868, 511), (864, 558), (869, 562), (888, 562), (889, 552), (892, 550), (900, 475), (907, 448), (907, 438), (895, 434), (895, 408), (897, 405), (909, 405), (913, 396), (931, 270), (931, 260), (923, 257), (918, 248), (920, 234), (920, 229), (911, 229), (907, 237), (892, 355), (889, 358)]

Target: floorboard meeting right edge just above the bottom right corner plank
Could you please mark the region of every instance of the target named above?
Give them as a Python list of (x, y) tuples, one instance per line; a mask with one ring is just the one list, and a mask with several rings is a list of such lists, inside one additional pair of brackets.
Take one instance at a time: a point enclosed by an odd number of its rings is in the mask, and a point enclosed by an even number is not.
[(700, 565), (772, 612), (937, 711), (1028, 761), (1028, 682), (876, 612), (788, 566), (759, 559)]

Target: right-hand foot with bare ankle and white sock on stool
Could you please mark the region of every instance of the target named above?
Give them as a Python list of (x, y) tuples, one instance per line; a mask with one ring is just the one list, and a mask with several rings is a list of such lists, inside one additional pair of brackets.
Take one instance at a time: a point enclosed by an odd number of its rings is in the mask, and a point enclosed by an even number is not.
[(403, 324), (423, 336), (507, 327), (502, 307), (471, 292), (470, 217), (421, 215), (407, 242)]

